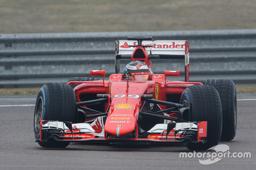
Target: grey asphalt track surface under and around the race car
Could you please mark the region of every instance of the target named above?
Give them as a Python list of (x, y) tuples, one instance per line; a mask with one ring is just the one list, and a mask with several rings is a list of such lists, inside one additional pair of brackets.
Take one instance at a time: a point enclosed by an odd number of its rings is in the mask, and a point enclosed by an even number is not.
[(251, 158), (223, 158), (202, 165), (198, 157), (180, 158), (180, 152), (193, 152), (181, 144), (73, 143), (65, 149), (42, 148), (33, 134), (36, 96), (0, 96), (0, 169), (255, 169), (256, 94), (238, 94), (237, 99), (236, 137), (219, 144), (227, 144), (231, 153), (250, 152)]

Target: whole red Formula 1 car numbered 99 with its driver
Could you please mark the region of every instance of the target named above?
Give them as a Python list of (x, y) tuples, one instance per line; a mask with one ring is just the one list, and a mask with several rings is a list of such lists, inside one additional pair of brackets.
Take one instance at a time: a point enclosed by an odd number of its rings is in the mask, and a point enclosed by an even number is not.
[[(231, 80), (189, 82), (188, 41), (131, 36), (115, 43), (116, 74), (107, 81), (105, 70), (91, 70), (103, 80), (80, 77), (42, 86), (34, 113), (40, 146), (184, 143), (207, 150), (235, 137), (236, 86)], [(124, 72), (121, 59), (131, 59)], [(152, 59), (184, 60), (185, 81), (166, 78), (180, 76), (178, 70), (154, 74)]]

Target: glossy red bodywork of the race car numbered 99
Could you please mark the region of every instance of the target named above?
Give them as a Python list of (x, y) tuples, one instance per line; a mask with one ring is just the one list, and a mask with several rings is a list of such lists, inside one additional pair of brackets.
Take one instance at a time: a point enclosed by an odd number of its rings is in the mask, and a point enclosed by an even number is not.
[[(104, 112), (108, 112), (107, 118), (105, 119), (104, 127), (104, 139), (109, 139), (110, 135), (115, 137), (122, 137), (124, 135), (134, 133), (135, 135), (132, 139), (140, 139), (138, 137), (138, 119), (140, 111), (143, 110), (143, 105), (145, 101), (141, 100), (141, 95), (153, 95), (153, 99), (167, 101), (167, 95), (181, 95), (181, 93), (190, 85), (202, 85), (202, 83), (188, 82), (189, 81), (189, 44), (188, 41), (184, 41), (184, 59), (185, 59), (185, 81), (169, 81), (166, 76), (179, 76), (179, 71), (165, 71), (164, 74), (153, 74), (150, 55), (148, 50), (143, 46), (137, 46), (132, 52), (132, 61), (140, 60), (145, 62), (151, 70), (151, 75), (149, 80), (144, 81), (127, 81), (123, 74), (116, 73), (110, 75), (107, 81), (104, 80), (105, 71), (104, 70), (91, 70), (92, 76), (103, 76), (103, 81), (91, 81), (91, 82), (68, 82), (70, 84), (82, 83), (74, 88), (77, 102), (84, 101), (81, 96), (84, 94), (109, 94), (109, 103), (104, 106)], [(127, 46), (126, 46), (127, 47)], [(125, 48), (126, 48), (125, 47)], [(172, 47), (172, 46), (170, 46)], [(179, 47), (176, 45), (176, 47)], [(138, 57), (136, 51), (142, 51), (143, 57)], [(118, 50), (116, 50), (118, 52)], [(116, 52), (116, 53), (117, 53)], [(141, 53), (140, 53), (141, 54)], [(116, 54), (118, 57), (118, 55)], [(122, 58), (122, 56), (119, 56)], [(127, 56), (125, 56), (127, 57)], [(186, 61), (187, 60), (187, 61)], [(119, 69), (119, 68), (118, 68)], [(118, 70), (116, 69), (116, 70)], [(165, 105), (158, 105), (161, 110), (166, 109)], [(86, 106), (84, 106), (86, 107)], [(148, 111), (148, 110), (145, 110)], [(86, 112), (87, 115), (92, 113)], [(95, 113), (93, 113), (95, 114)], [(167, 115), (167, 114), (165, 114)], [(172, 113), (171, 117), (178, 118), (176, 113)], [(171, 121), (169, 121), (171, 122)], [(98, 127), (94, 127), (94, 130), (98, 130)], [(183, 135), (179, 136), (182, 137)], [(170, 132), (168, 138), (166, 135), (148, 135), (147, 139), (150, 140), (176, 140), (177, 136), (174, 135), (174, 130)], [(198, 141), (200, 141), (198, 136)], [(83, 137), (83, 139), (95, 139), (95, 136)], [(70, 139), (68, 139), (70, 140)], [(145, 140), (145, 139), (144, 139)]]

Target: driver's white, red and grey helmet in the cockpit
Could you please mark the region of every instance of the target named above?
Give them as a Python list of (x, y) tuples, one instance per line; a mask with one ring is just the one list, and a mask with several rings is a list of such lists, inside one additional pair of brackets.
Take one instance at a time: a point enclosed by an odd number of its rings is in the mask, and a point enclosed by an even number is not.
[(125, 78), (129, 77), (132, 80), (148, 80), (149, 75), (150, 70), (147, 64), (138, 60), (132, 61), (124, 68)]

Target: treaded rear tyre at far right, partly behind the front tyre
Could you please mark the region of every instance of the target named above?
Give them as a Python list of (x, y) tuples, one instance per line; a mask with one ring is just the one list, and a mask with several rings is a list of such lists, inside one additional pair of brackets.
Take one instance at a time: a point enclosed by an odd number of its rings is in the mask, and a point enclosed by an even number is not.
[(222, 106), (222, 132), (220, 140), (230, 141), (236, 136), (236, 85), (232, 80), (204, 80), (219, 93)]

